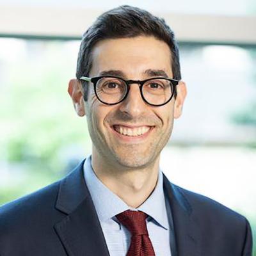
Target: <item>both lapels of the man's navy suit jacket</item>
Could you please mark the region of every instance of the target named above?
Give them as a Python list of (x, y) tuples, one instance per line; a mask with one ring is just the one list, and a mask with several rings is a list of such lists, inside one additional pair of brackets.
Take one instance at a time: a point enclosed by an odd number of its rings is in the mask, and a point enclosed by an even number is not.
[[(69, 256), (109, 256), (108, 247), (83, 179), (84, 161), (61, 180), (56, 209), (67, 216), (54, 226)], [(182, 189), (163, 175), (164, 193), (170, 202), (175, 236), (172, 236), (172, 256), (200, 256), (200, 232), (193, 208)], [(172, 228), (173, 230), (173, 228)]]

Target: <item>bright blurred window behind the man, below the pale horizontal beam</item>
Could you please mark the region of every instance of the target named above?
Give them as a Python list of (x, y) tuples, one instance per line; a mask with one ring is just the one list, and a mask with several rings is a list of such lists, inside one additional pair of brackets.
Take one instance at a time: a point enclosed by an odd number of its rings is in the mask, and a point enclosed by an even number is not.
[[(67, 93), (78, 50), (78, 41), (0, 38), (0, 204), (90, 152), (86, 120)], [(188, 98), (164, 173), (256, 223), (256, 47), (180, 43), (180, 61)]]

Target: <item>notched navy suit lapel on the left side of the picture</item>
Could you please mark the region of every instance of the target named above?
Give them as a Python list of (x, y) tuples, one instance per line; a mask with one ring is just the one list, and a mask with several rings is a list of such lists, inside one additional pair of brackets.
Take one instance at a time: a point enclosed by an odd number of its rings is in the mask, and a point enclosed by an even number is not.
[(67, 216), (54, 228), (69, 256), (109, 256), (97, 212), (83, 179), (83, 163), (61, 181), (56, 208)]

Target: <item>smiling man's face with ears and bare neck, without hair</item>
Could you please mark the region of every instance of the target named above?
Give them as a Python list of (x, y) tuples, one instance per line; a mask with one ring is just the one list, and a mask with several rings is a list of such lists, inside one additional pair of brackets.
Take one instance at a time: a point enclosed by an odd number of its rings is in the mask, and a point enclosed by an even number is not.
[(175, 101), (170, 48), (154, 36), (102, 40), (93, 47), (92, 60), (90, 77), (99, 79), (95, 90), (88, 84), (88, 100), (81, 100), (83, 88), (76, 79), (69, 92), (77, 113), (88, 120), (94, 172), (136, 208), (156, 186), (160, 152), (173, 116), (180, 115), (186, 86), (180, 82)]

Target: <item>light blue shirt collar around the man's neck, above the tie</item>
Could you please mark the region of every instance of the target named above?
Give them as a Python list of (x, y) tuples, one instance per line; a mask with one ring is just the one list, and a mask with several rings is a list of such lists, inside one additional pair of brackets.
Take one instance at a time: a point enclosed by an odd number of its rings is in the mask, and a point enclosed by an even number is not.
[[(84, 161), (84, 179), (100, 221), (107, 221), (120, 212), (132, 209), (95, 175), (91, 164), (91, 156)], [(163, 173), (160, 170), (154, 191), (140, 207), (132, 210), (145, 212), (163, 228), (168, 229), (168, 216), (163, 191)]]

